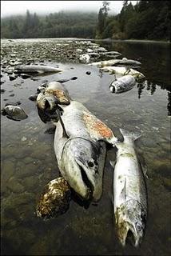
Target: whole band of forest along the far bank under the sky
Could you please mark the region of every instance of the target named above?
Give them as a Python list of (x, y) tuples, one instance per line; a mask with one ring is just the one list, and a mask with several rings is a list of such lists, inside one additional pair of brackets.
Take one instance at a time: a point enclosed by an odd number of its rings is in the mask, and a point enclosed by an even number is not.
[(120, 14), (109, 14), (109, 2), (97, 13), (63, 12), (1, 18), (1, 38), (113, 38), (170, 40), (170, 2), (123, 1)]

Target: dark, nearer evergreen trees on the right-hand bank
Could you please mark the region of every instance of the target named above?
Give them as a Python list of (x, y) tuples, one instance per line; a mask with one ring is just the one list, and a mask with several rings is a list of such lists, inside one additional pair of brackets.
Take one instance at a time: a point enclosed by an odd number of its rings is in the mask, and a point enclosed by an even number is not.
[[(99, 16), (101, 17), (101, 10)], [(98, 34), (101, 38), (118, 39), (170, 39), (170, 2), (137, 1), (135, 6), (123, 1), (117, 16), (98, 17)]]

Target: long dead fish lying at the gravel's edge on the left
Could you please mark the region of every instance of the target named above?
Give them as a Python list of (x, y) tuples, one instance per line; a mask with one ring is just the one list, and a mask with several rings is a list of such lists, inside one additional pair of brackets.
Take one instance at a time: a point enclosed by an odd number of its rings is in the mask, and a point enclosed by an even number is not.
[(53, 66), (41, 66), (41, 65), (20, 65), (15, 66), (16, 73), (28, 73), (28, 74), (43, 74), (50, 72), (61, 72), (62, 70)]

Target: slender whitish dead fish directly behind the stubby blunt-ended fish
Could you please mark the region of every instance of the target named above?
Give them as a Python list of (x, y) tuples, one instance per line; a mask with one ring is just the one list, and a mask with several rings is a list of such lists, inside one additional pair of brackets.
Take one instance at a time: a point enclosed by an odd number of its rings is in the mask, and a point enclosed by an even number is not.
[(109, 72), (110, 74), (131, 74), (136, 79), (145, 78), (145, 75), (141, 72), (133, 69), (126, 68), (125, 66), (105, 66), (102, 67), (101, 70), (105, 72)]

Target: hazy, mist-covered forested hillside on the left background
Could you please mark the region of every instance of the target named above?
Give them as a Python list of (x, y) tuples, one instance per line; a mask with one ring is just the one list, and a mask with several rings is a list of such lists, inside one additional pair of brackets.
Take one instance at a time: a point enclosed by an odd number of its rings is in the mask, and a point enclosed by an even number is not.
[(2, 18), (2, 38), (94, 38), (97, 14), (58, 12), (46, 16), (30, 14)]

